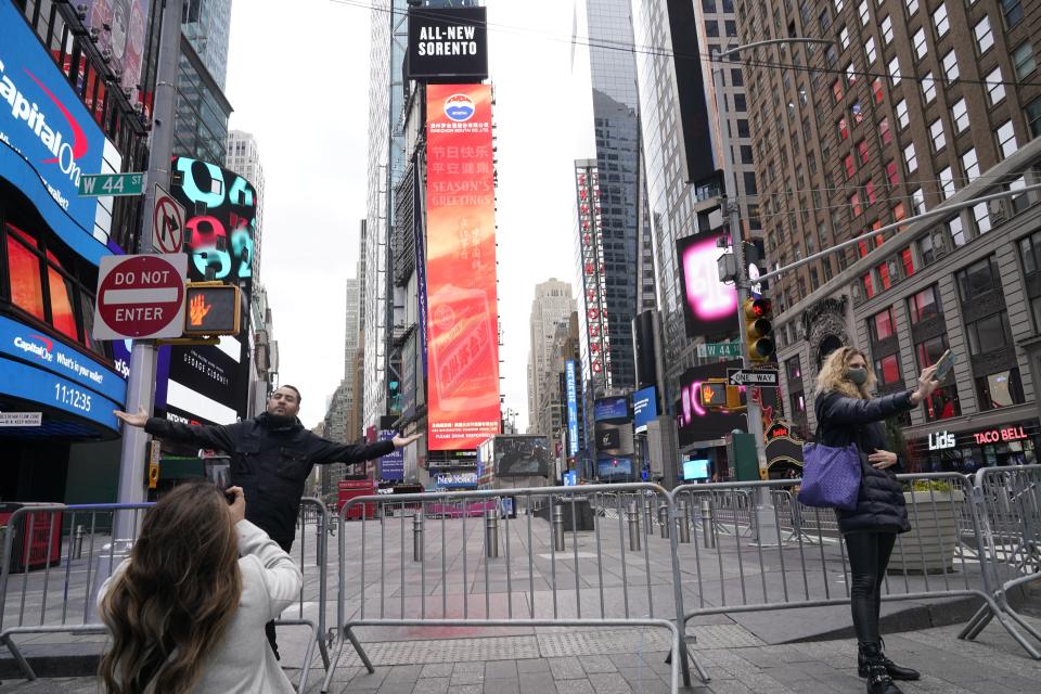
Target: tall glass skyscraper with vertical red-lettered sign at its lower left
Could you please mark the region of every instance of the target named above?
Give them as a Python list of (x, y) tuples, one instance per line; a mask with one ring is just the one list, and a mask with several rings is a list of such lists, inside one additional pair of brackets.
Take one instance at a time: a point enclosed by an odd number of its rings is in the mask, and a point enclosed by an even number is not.
[(632, 388), (631, 322), (638, 311), (641, 266), (640, 128), (637, 69), (628, 0), (576, 0), (575, 80), (576, 259), (579, 333), (586, 398)]

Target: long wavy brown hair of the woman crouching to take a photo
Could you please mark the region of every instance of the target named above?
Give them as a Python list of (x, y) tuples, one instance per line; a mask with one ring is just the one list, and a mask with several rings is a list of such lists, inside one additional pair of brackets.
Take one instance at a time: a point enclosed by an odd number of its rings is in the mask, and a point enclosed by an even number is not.
[(182, 694), (239, 608), (239, 540), (224, 496), (182, 485), (149, 510), (101, 604), (112, 634), (98, 674), (112, 694)]

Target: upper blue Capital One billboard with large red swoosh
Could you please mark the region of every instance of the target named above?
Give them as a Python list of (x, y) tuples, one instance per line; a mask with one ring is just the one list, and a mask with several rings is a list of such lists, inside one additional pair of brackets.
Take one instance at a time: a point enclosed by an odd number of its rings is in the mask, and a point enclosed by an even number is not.
[(0, 2), (0, 176), (40, 210), (65, 243), (91, 262), (98, 198), (79, 197), (81, 175), (99, 174), (105, 138), (18, 12)]

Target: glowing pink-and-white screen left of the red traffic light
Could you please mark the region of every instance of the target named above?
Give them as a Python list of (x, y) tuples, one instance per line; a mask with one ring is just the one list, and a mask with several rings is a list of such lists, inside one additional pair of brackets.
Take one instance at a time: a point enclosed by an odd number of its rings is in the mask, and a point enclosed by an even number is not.
[(737, 332), (737, 290), (719, 281), (716, 261), (723, 249), (719, 232), (694, 234), (676, 242), (683, 316), (687, 337), (733, 335)]

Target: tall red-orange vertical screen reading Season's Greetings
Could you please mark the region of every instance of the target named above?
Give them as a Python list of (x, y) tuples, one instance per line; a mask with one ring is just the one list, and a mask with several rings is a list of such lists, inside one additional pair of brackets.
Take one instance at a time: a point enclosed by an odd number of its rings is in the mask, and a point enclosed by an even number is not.
[(426, 97), (427, 447), (477, 448), (501, 416), (491, 86)]

